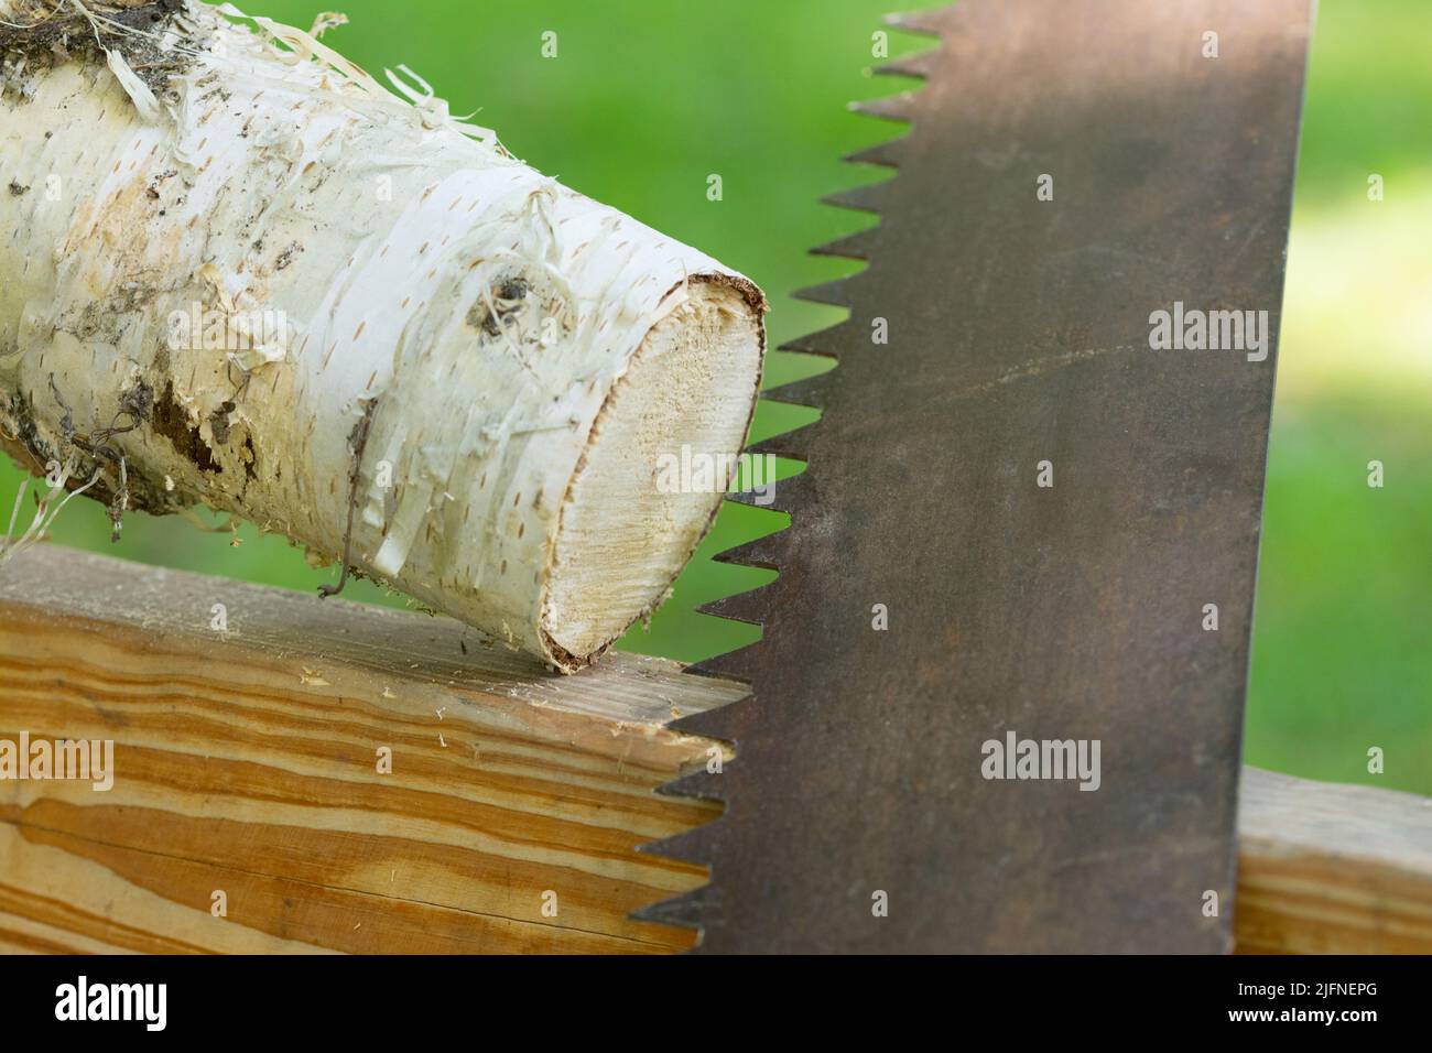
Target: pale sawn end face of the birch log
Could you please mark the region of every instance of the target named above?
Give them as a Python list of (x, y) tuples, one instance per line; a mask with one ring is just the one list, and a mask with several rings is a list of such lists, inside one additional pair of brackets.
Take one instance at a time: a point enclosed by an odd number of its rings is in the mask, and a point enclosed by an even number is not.
[(666, 302), (597, 414), (561, 509), (541, 633), (567, 672), (666, 597), (720, 509), (755, 411), (759, 289), (699, 275)]

